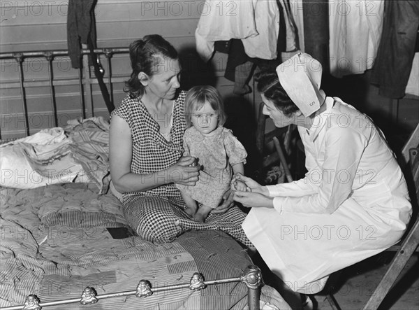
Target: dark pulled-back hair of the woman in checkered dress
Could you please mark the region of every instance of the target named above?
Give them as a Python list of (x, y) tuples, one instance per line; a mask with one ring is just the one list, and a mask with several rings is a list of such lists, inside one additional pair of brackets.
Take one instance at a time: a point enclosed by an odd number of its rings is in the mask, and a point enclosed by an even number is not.
[[(138, 74), (144, 72), (147, 76), (153, 76), (158, 70), (162, 60), (178, 59), (177, 50), (159, 34), (149, 34), (144, 38), (133, 41), (129, 45), (129, 57), (131, 59), (131, 78), (125, 82), (124, 91), (131, 98), (142, 97), (145, 87), (141, 84)], [(163, 66), (170, 66), (170, 62)]]

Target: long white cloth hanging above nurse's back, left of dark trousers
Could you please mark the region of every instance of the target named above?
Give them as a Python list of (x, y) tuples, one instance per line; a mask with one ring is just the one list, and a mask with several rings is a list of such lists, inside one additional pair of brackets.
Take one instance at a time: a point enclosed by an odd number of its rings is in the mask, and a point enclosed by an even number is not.
[(329, 14), (332, 76), (371, 69), (383, 29), (384, 0), (332, 1)]

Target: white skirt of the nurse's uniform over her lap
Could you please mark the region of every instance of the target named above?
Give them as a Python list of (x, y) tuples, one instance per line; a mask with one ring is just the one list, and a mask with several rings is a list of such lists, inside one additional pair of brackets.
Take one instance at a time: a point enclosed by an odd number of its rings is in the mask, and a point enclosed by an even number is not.
[(404, 188), (392, 191), (391, 202), (362, 205), (350, 197), (332, 214), (253, 208), (242, 227), (274, 274), (294, 291), (314, 294), (330, 274), (384, 251), (404, 234), (411, 217)]

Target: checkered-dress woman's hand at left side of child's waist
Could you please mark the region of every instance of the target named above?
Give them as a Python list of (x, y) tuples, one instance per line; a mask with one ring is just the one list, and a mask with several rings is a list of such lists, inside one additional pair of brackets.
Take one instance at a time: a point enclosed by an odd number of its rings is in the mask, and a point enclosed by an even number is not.
[(199, 178), (200, 165), (196, 158), (182, 156), (176, 164), (168, 169), (168, 178), (171, 182), (182, 185), (195, 185)]

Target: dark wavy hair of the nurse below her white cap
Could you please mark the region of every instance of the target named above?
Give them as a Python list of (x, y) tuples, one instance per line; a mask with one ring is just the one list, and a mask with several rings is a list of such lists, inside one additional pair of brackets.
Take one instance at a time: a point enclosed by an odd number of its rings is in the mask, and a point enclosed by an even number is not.
[(288, 94), (279, 82), (277, 71), (272, 67), (261, 67), (255, 74), (258, 92), (262, 93), (266, 99), (272, 101), (274, 106), (282, 111), (284, 115), (291, 116), (298, 111)]

